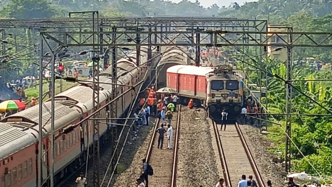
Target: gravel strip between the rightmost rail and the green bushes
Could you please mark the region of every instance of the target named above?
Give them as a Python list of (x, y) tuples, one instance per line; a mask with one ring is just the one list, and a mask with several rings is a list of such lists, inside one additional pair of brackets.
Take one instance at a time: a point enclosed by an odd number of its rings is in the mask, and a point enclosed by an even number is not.
[(271, 180), (272, 186), (285, 186), (284, 176), (282, 175), (284, 168), (272, 162), (273, 157), (276, 157), (276, 155), (268, 150), (269, 147), (274, 145), (273, 142), (266, 139), (259, 132), (258, 128), (250, 125), (240, 125), (240, 128), (265, 184), (268, 180)]

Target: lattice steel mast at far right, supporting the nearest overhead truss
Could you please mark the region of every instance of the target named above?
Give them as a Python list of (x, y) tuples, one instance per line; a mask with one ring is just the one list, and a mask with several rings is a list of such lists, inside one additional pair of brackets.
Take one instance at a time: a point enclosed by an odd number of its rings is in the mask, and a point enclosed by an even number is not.
[[(292, 28), (288, 28), (288, 32), (292, 32)], [(292, 35), (288, 34), (288, 42), (292, 42)], [(287, 47), (287, 60), (286, 60), (286, 73), (287, 81), (292, 80), (292, 47)], [(292, 87), (286, 84), (286, 113), (291, 113), (291, 99), (292, 99)], [(291, 115), (286, 115), (286, 145), (285, 145), (285, 172), (290, 171), (290, 159), (291, 159)]]

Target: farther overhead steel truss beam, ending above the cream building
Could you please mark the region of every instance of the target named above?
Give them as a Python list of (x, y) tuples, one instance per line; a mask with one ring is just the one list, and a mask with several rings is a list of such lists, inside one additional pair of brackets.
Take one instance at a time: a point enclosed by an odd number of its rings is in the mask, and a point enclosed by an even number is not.
[[(243, 27), (255, 28), (257, 31), (264, 30), (267, 26), (266, 20), (247, 20), (235, 18), (213, 18), (213, 17), (133, 17), (133, 18), (100, 18), (101, 27), (160, 27), (171, 25), (171, 27), (204, 27), (204, 28), (232, 28), (233, 30)], [(57, 19), (2, 19), (2, 28), (92, 28), (90, 18), (57, 18)]]

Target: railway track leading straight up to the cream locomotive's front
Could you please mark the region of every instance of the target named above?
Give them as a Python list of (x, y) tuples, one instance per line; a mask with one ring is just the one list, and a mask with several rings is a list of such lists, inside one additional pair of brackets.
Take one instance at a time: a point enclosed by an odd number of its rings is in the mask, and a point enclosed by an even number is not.
[(221, 131), (219, 128), (213, 121), (226, 186), (236, 187), (241, 176), (245, 174), (247, 178), (253, 175), (258, 187), (265, 187), (240, 126), (237, 123), (228, 124), (226, 131)]

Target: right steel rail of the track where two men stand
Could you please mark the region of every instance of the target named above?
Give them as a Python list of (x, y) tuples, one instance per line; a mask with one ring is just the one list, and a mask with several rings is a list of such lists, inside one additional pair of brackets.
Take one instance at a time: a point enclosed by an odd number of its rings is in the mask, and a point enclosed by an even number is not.
[(180, 121), (181, 121), (181, 105), (179, 105), (178, 118), (177, 118), (177, 123), (176, 123), (176, 134), (175, 134), (175, 146), (174, 146), (174, 154), (173, 154), (171, 187), (176, 187), (176, 175), (177, 175), (177, 168), (178, 168), (179, 137), (180, 137)]

